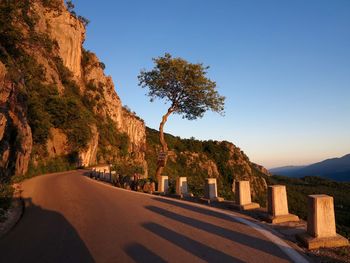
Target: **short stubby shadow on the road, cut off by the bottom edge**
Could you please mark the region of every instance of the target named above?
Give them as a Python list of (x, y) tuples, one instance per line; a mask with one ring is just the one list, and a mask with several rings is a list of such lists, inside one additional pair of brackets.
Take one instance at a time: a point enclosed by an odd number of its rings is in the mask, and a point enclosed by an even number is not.
[(152, 262), (152, 263), (165, 263), (166, 261), (160, 256), (149, 250), (147, 247), (133, 243), (124, 248), (124, 251), (130, 258), (137, 263)]

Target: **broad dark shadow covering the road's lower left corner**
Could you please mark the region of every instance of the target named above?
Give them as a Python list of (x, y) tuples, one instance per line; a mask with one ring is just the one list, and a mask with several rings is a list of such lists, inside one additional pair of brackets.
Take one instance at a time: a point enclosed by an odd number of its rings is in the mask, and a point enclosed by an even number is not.
[(25, 199), (25, 213), (0, 240), (0, 262), (94, 262), (74, 227), (55, 211)]

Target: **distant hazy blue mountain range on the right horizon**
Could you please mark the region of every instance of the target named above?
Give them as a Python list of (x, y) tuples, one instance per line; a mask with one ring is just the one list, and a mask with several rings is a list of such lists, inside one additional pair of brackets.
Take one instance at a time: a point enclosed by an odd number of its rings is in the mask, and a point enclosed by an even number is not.
[(274, 175), (289, 177), (321, 176), (335, 181), (350, 182), (350, 154), (327, 159), (307, 166), (284, 166), (269, 170)]

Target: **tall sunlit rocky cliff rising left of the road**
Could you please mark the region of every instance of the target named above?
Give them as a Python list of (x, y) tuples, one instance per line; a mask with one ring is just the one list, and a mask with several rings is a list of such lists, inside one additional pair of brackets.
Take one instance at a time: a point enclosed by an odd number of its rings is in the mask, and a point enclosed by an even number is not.
[(84, 50), (84, 20), (62, 0), (0, 4), (1, 177), (64, 157), (83, 166), (145, 162), (145, 124)]

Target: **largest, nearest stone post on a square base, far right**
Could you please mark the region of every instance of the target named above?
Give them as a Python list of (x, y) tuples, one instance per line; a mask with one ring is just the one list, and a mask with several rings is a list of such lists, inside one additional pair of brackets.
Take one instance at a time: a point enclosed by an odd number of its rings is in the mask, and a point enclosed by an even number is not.
[(336, 233), (332, 196), (308, 196), (307, 232), (297, 238), (308, 249), (349, 245), (346, 238)]

